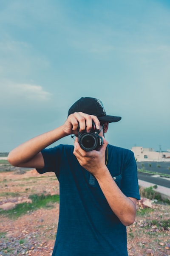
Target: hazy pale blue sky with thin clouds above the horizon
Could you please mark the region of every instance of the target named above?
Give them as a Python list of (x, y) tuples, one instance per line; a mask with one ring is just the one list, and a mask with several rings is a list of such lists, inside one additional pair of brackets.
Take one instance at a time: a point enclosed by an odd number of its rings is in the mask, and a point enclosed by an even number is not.
[(170, 149), (169, 0), (0, 0), (0, 151), (62, 125), (82, 96), (122, 116), (110, 144)]

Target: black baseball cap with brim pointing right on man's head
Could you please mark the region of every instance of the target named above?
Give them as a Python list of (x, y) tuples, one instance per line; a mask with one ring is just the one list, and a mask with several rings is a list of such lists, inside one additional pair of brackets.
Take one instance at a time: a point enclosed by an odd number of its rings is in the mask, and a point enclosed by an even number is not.
[(91, 97), (82, 97), (77, 100), (77, 102), (75, 102), (69, 109), (68, 116), (74, 112), (83, 112), (97, 116), (100, 122), (118, 122), (122, 118), (121, 116), (106, 115), (106, 111), (101, 100)]

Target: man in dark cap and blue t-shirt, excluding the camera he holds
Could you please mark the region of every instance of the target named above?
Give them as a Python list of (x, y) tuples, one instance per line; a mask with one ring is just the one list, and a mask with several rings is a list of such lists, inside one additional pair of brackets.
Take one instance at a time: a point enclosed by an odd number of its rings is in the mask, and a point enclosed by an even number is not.
[[(19, 145), (8, 161), (33, 167), (42, 174), (55, 172), (60, 186), (60, 209), (53, 256), (127, 256), (126, 226), (136, 217), (140, 199), (133, 152), (108, 144), (108, 123), (119, 116), (106, 115), (102, 102), (81, 98), (68, 111), (63, 125)], [(84, 151), (79, 132), (90, 132), (92, 121), (103, 145)], [(102, 125), (101, 125), (102, 124)], [(46, 148), (70, 134), (73, 145)]]

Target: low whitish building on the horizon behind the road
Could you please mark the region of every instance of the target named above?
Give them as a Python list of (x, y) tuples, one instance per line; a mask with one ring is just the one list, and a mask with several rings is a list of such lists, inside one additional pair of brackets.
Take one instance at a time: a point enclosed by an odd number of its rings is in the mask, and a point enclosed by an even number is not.
[(170, 162), (170, 152), (154, 151), (153, 148), (132, 147), (136, 161)]

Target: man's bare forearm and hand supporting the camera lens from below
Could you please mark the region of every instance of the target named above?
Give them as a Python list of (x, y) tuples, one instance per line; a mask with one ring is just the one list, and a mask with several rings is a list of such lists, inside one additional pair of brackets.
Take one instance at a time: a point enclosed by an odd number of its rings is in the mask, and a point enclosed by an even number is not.
[(105, 149), (108, 143), (104, 137), (103, 142), (99, 151), (85, 152), (80, 148), (76, 140), (74, 143), (74, 155), (77, 157), (80, 165), (96, 177), (108, 204), (122, 224), (129, 226), (135, 221), (136, 198), (125, 196), (113, 180), (105, 165)]

